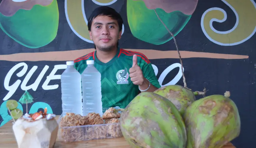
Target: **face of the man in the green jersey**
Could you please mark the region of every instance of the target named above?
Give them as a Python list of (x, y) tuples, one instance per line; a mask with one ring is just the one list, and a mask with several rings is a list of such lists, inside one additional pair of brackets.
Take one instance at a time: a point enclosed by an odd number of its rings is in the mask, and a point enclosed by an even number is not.
[(118, 23), (108, 16), (98, 16), (93, 19), (90, 38), (96, 48), (102, 51), (112, 50), (118, 39), (121, 38), (122, 31), (119, 31)]

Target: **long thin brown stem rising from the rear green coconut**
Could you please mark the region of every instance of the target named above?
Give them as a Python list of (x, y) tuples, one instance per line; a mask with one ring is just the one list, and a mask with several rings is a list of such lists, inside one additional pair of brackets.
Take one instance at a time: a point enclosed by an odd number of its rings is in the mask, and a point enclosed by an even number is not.
[[(162, 24), (164, 25), (164, 27), (166, 28), (166, 30), (171, 34), (171, 36), (172, 36), (172, 38), (173, 38), (173, 40), (174, 40), (174, 43), (175, 43), (177, 52), (178, 52), (178, 54), (179, 54), (179, 60), (180, 60), (180, 65), (181, 65), (181, 73), (182, 73), (182, 78), (183, 78), (184, 87), (187, 88), (187, 89), (189, 89), (189, 88), (187, 87), (185, 75), (184, 75), (184, 72), (183, 72), (182, 58), (181, 58), (180, 53), (179, 53), (179, 49), (178, 49), (178, 45), (177, 45), (176, 39), (175, 39), (174, 35), (171, 33), (171, 31), (167, 28), (167, 26), (165, 25), (165, 23), (160, 19), (160, 17), (159, 17), (158, 14), (157, 14), (156, 9), (154, 9), (154, 11), (155, 11), (155, 13), (156, 13), (158, 19), (162, 22)], [(197, 94), (195, 94), (195, 92), (197, 92)], [(195, 91), (195, 92), (194, 92), (195, 95), (203, 95), (203, 96), (205, 97), (206, 89), (204, 89), (203, 92), (202, 92), (202, 91)]]

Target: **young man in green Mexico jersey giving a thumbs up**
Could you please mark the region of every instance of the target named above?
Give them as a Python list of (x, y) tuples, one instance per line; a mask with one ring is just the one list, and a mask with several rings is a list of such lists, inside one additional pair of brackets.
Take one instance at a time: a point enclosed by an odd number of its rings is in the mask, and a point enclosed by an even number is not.
[(101, 73), (103, 108), (125, 108), (139, 91), (153, 92), (160, 88), (145, 55), (118, 47), (122, 24), (121, 16), (114, 9), (96, 8), (88, 19), (88, 30), (96, 51), (74, 60), (74, 67), (81, 74), (87, 67), (86, 60), (94, 60), (94, 66)]

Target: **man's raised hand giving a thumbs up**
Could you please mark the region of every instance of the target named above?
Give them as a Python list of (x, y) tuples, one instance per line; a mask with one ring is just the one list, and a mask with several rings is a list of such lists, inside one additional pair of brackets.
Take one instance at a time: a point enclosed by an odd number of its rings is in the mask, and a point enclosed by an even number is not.
[(129, 69), (129, 77), (131, 78), (133, 84), (142, 85), (145, 78), (143, 76), (141, 67), (138, 66), (138, 59), (136, 54), (133, 55), (132, 61), (132, 67)]

